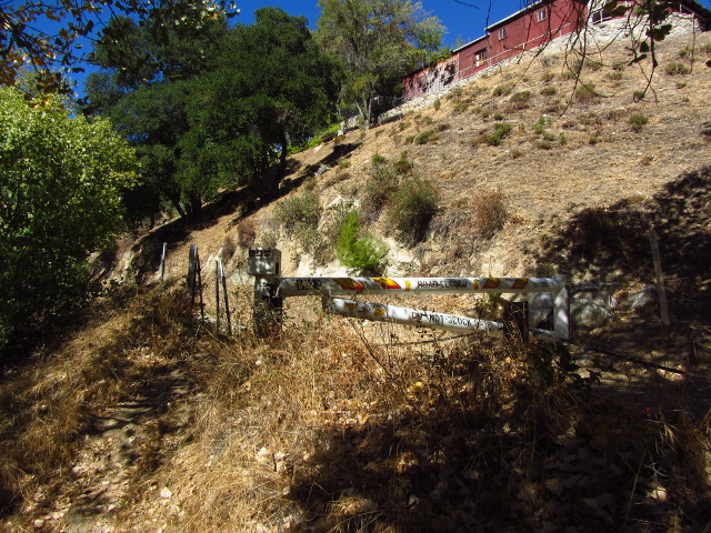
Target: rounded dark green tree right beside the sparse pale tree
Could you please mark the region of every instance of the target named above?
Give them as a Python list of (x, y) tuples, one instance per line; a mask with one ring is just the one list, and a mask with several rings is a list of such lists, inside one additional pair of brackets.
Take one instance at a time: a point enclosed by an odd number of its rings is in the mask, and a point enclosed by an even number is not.
[(263, 8), (254, 24), (226, 36), (210, 72), (191, 86), (190, 131), (181, 142), (184, 178), (261, 180), (273, 198), (289, 147), (336, 117), (340, 72), (307, 23)]

